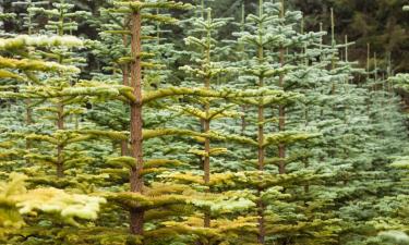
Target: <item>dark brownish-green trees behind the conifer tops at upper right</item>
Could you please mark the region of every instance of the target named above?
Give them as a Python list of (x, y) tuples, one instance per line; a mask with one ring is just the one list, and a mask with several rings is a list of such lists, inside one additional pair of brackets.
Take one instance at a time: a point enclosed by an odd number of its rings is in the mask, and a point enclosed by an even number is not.
[[(277, 0), (272, 1), (277, 2)], [(401, 11), (405, 0), (287, 0), (288, 5), (300, 9), (305, 15), (305, 26), (317, 29), (320, 23), (324, 29), (330, 29), (330, 8), (337, 15), (336, 38), (342, 40), (345, 35), (356, 40), (350, 49), (350, 57), (366, 62), (366, 44), (378, 53), (378, 68), (386, 72), (392, 60), (396, 72), (408, 72), (408, 21), (407, 13)], [(213, 1), (210, 4), (221, 16), (240, 16), (239, 9), (245, 3), (254, 9), (254, 1), (226, 0)], [(371, 59), (371, 65), (374, 62)]]

